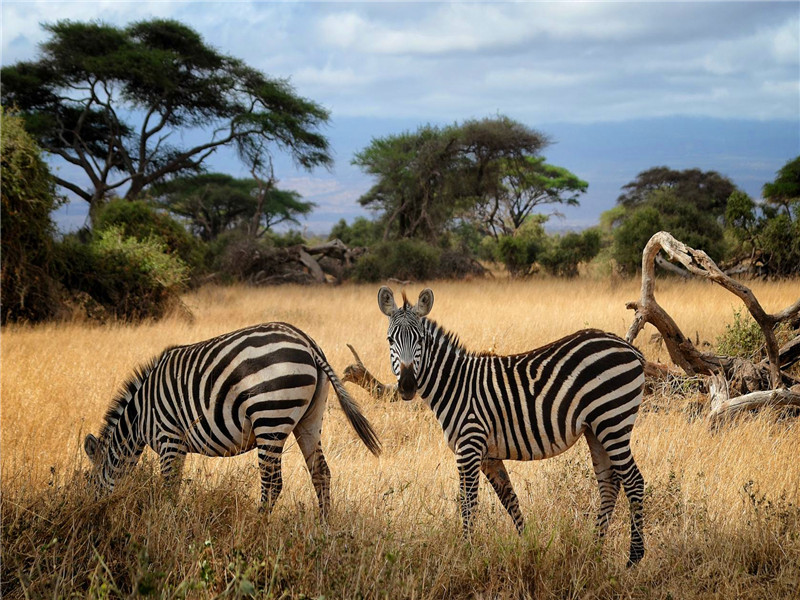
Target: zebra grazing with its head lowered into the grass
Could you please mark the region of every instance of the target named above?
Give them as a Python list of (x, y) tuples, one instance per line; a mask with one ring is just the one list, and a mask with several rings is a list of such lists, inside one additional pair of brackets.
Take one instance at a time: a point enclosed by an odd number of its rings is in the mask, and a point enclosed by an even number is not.
[(86, 436), (91, 479), (98, 491), (112, 491), (146, 445), (172, 483), (180, 480), (189, 452), (233, 456), (258, 448), (261, 502), (269, 510), (283, 486), (283, 446), (294, 433), (324, 517), (330, 470), (320, 434), (329, 381), (358, 436), (380, 454), (372, 426), (320, 347), (292, 325), (255, 325), (167, 348), (134, 372), (111, 403), (100, 437)]

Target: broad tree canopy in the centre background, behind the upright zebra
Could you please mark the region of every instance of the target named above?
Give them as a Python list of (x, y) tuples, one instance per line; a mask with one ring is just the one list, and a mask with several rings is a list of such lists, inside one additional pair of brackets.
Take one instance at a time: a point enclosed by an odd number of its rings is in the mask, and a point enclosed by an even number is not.
[(353, 159), (377, 178), (359, 202), (381, 213), (384, 239), (433, 241), (454, 217), (471, 217), (478, 203), (500, 194), (507, 165), (527, 161), (548, 143), (504, 116), (374, 139)]

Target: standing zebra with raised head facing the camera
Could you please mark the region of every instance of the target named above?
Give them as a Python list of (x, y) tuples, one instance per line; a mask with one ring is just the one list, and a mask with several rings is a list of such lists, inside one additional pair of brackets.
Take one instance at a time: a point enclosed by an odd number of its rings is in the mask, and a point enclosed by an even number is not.
[(430, 289), (414, 306), (404, 294), (398, 308), (384, 286), (378, 306), (389, 317), (400, 396), (411, 400), (419, 391), (456, 455), (465, 535), (481, 471), (521, 533), (519, 500), (503, 460), (550, 458), (584, 435), (600, 488), (598, 534), (605, 535), (622, 484), (631, 507), (628, 564), (641, 560), (644, 479), (630, 449), (644, 384), (644, 359), (636, 349), (587, 329), (523, 354), (475, 354), (425, 318), (433, 307)]

